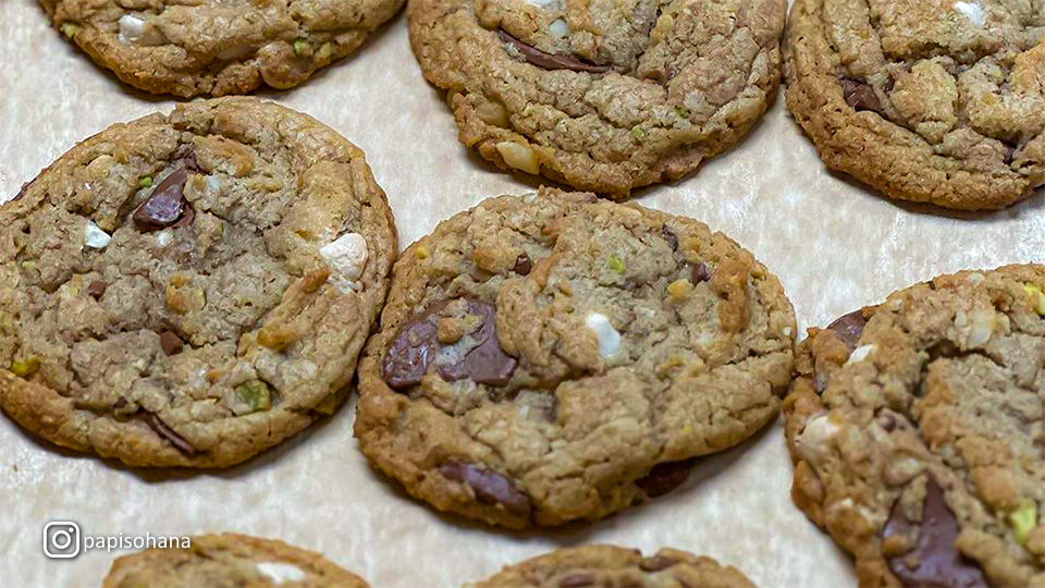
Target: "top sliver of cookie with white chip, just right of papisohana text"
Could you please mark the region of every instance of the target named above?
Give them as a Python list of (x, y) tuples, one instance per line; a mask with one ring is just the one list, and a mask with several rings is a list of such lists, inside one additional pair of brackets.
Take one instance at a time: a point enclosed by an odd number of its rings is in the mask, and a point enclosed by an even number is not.
[(319, 553), (245, 535), (188, 538), (190, 547), (148, 549), (112, 564), (101, 588), (369, 588)]

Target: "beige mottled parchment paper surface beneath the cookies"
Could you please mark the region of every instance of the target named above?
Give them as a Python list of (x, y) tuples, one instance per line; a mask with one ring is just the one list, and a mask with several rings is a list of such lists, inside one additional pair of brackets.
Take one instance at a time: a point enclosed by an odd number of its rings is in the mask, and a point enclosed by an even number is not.
[[(0, 0), (0, 201), (109, 124), (170, 110), (95, 66), (33, 0)], [(532, 189), (456, 140), (448, 109), (410, 54), (399, 14), (354, 58), (304, 86), (262, 93), (333, 126), (368, 155), (402, 245), (483, 197)], [(643, 205), (689, 215), (748, 247), (784, 282), (799, 327), (945, 271), (1042, 258), (1042, 198), (992, 215), (897, 206), (833, 176), (783, 98), (737, 149)], [(45, 559), (41, 528), (90, 536), (236, 530), (324, 552), (374, 588), (451, 588), (558, 546), (674, 546), (741, 568), (762, 588), (856, 586), (848, 559), (788, 498), (779, 422), (708, 458), (673, 494), (594, 525), (509, 535), (440, 516), (366, 466), (354, 403), (329, 422), (222, 474), (175, 477), (62, 455), (0, 417), (0, 584), (96, 587), (113, 555)]]

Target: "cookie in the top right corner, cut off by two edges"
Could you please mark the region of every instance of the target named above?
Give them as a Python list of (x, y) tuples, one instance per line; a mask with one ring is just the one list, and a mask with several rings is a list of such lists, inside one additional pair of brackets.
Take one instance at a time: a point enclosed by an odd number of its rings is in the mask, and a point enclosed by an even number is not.
[(1041, 2), (796, 0), (787, 27), (787, 107), (828, 168), (967, 210), (1045, 182)]

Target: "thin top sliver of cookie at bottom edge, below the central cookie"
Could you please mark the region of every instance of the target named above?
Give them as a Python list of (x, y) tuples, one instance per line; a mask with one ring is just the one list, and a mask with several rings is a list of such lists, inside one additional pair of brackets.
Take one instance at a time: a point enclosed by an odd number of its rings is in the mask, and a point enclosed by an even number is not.
[(505, 567), (470, 588), (754, 588), (733, 567), (711, 558), (662, 549), (643, 558), (637, 549), (587, 546), (553, 551)]

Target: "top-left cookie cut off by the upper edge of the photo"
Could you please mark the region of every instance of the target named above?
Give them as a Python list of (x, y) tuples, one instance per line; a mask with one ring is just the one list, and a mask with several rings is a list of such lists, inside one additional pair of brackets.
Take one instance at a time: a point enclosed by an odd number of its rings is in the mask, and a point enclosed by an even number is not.
[(355, 51), (404, 0), (40, 0), (66, 38), (152, 94), (294, 87)]

